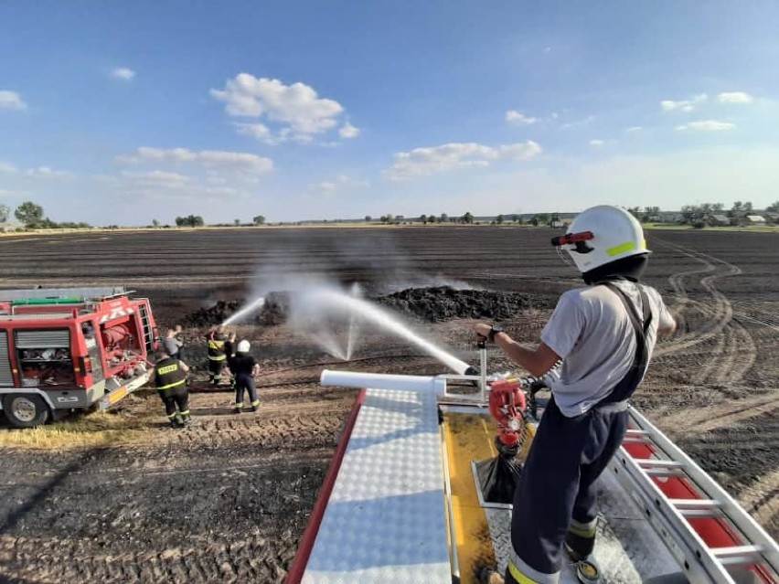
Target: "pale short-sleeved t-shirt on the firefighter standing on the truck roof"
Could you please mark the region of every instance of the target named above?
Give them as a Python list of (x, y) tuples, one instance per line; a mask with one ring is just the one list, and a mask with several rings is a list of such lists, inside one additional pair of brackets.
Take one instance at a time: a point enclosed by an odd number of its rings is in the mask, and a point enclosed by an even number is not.
[[(660, 294), (645, 284), (614, 281), (643, 315), (641, 295), (646, 292), (652, 322), (646, 332), (651, 358), (657, 329), (674, 324)], [(562, 357), (562, 366), (547, 376), (563, 415), (573, 418), (591, 409), (622, 380), (635, 356), (635, 331), (616, 292), (606, 286), (586, 286), (564, 292), (541, 333), (541, 341)]]

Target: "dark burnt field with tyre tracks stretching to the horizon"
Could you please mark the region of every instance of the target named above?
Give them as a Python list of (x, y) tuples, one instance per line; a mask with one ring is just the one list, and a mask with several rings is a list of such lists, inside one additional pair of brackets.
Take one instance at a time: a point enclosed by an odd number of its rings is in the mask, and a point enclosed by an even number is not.
[[(258, 290), (305, 277), (359, 283), (426, 339), (477, 364), (471, 325), (535, 341), (580, 283), (545, 228), (155, 230), (0, 239), (0, 288), (123, 285), (157, 323), (185, 324), (203, 377), (203, 333)], [(779, 537), (779, 253), (776, 233), (655, 230), (645, 280), (678, 314), (634, 398)], [(283, 317), (236, 327), (261, 361), (261, 408), (193, 394), (199, 425), (165, 427), (152, 392), (124, 399), (99, 440), (5, 447), (0, 582), (283, 582), (354, 391), (321, 370), (434, 375), (443, 365), (368, 327), (338, 361)], [(490, 351), (489, 368), (511, 368)], [(95, 416), (92, 414), (91, 416)], [(65, 429), (78, 419), (65, 419)], [(0, 430), (9, 432), (11, 430)], [(125, 437), (130, 437), (125, 439)]]

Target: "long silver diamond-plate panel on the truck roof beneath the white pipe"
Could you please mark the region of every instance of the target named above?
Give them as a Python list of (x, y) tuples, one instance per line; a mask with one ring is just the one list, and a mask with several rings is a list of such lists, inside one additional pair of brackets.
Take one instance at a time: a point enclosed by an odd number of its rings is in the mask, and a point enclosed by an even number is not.
[(368, 389), (304, 584), (451, 584), (432, 391)]

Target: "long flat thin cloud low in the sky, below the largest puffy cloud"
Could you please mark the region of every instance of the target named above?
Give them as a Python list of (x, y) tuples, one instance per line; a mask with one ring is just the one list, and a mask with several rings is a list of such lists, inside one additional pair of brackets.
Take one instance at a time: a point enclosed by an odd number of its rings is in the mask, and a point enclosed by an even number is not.
[(273, 170), (273, 161), (257, 154), (219, 150), (194, 152), (187, 148), (164, 149), (141, 146), (133, 156), (117, 156), (116, 161), (123, 164), (163, 162), (194, 164), (210, 169), (236, 169), (253, 174), (265, 174)]

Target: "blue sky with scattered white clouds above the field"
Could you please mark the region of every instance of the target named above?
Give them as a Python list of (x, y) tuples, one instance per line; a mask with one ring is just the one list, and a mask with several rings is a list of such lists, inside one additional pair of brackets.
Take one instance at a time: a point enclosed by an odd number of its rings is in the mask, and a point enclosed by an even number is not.
[(779, 4), (0, 5), (0, 204), (146, 225), (779, 200)]

